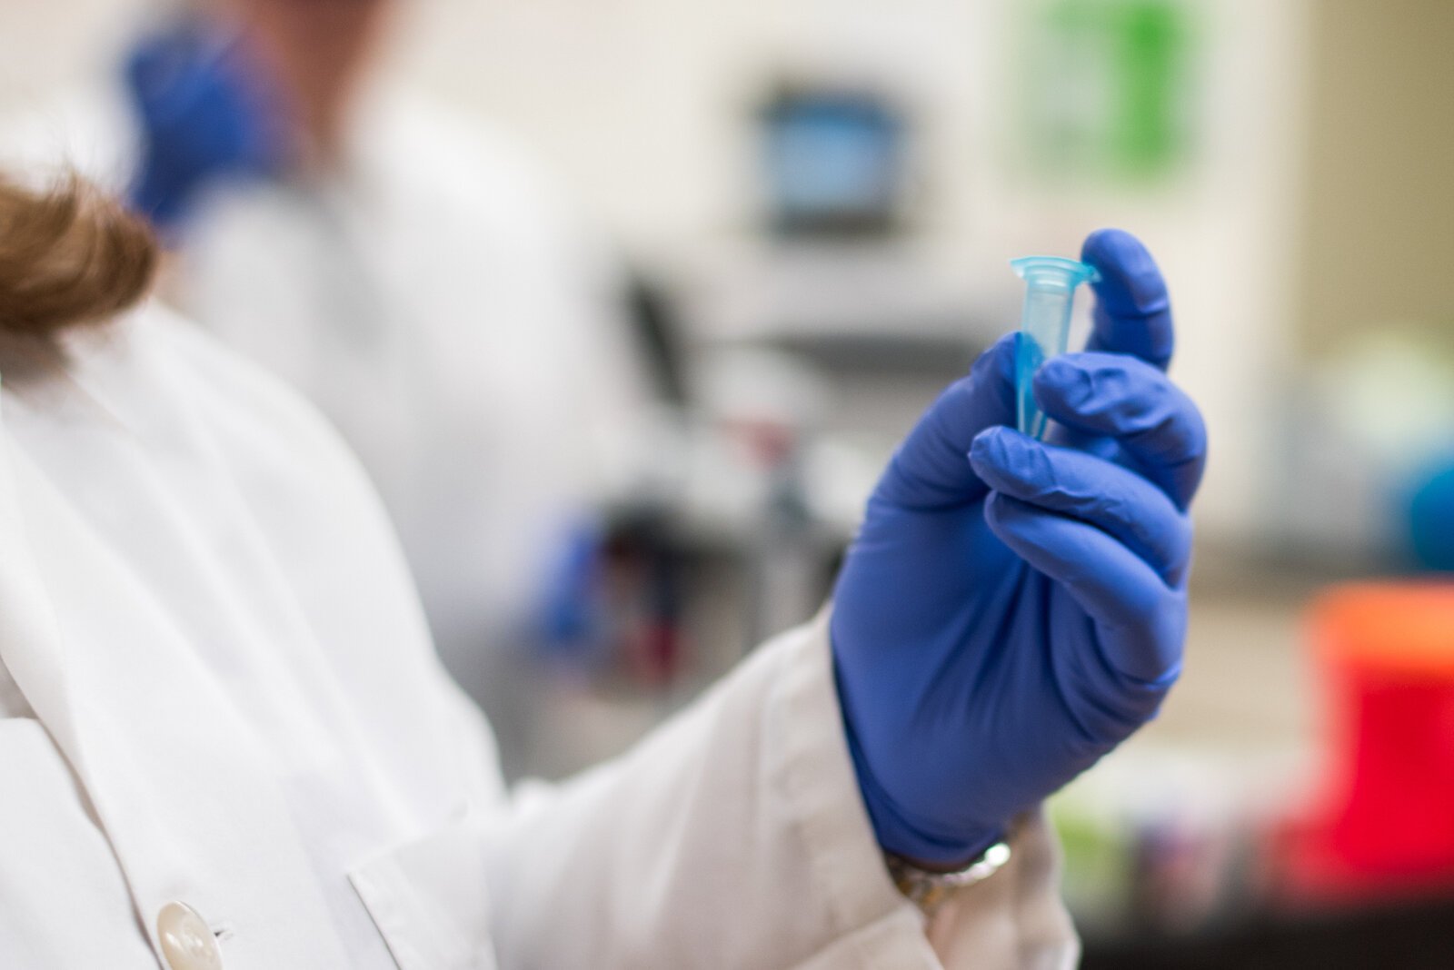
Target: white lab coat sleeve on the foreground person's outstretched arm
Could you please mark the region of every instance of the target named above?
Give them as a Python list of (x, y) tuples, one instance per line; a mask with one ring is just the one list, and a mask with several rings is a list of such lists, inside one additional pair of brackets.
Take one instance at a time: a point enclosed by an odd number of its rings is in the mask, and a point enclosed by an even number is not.
[(826, 617), (622, 758), (518, 791), (486, 860), (502, 970), (1070, 967), (1051, 836), (926, 926), (893, 887), (840, 728)]

